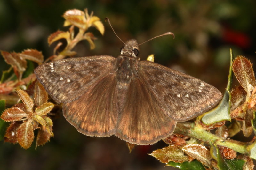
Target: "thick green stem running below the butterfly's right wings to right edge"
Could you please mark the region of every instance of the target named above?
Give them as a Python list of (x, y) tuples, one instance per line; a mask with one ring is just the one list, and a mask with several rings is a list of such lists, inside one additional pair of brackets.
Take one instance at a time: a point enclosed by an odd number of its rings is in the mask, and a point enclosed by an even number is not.
[(247, 146), (250, 145), (250, 143), (219, 137), (200, 127), (195, 126), (193, 122), (177, 123), (174, 132), (199, 139), (206, 143), (212, 142), (216, 145), (225, 146), (245, 155), (250, 154), (246, 149)]

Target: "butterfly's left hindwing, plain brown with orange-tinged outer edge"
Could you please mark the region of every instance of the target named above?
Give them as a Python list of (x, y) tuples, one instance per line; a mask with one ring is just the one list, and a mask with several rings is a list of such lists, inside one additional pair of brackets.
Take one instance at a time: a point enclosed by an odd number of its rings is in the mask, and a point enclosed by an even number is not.
[(80, 98), (63, 105), (63, 115), (88, 136), (107, 137), (115, 132), (118, 108), (116, 74), (109, 73)]

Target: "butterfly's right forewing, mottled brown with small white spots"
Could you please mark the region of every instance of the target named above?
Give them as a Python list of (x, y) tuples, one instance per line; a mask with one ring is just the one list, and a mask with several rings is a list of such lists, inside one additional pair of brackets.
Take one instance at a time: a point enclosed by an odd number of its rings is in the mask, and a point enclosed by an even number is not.
[(157, 63), (140, 61), (138, 70), (138, 76), (146, 82), (156, 103), (177, 122), (204, 113), (222, 97), (212, 85)]

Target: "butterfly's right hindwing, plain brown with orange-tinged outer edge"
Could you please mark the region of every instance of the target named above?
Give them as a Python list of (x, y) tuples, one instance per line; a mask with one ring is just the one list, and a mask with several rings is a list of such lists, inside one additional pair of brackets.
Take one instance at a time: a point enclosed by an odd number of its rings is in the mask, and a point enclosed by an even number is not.
[(166, 115), (146, 82), (134, 76), (118, 118), (116, 136), (129, 143), (147, 145), (172, 134), (176, 122)]

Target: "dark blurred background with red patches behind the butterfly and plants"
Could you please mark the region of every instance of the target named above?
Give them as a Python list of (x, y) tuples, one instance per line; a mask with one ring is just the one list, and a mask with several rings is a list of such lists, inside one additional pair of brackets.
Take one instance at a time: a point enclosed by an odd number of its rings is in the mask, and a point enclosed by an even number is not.
[[(126, 41), (144, 42), (171, 31), (175, 34), (149, 41), (140, 46), (139, 57), (145, 60), (155, 54), (155, 62), (180, 70), (216, 86), (224, 92), (228, 77), (229, 48), (235, 55), (245, 55), (255, 63), (256, 1), (254, 0), (148, 0), (148, 1), (83, 1), (83, 0), (1, 0), (0, 50), (21, 52), (32, 48), (45, 58), (53, 54), (47, 37), (63, 27), (61, 16), (77, 8), (94, 12), (105, 26), (96, 48), (80, 42), (77, 56), (113, 55), (117, 57), (122, 42), (104, 19), (108, 17), (119, 37)], [(56, 45), (56, 44), (55, 44)], [(0, 70), (8, 65), (0, 57)], [(84, 169), (171, 169), (147, 155), (166, 146), (162, 141), (153, 146), (137, 146), (129, 154), (124, 141), (117, 137), (86, 137), (76, 131), (60, 114), (54, 120), (54, 137), (35, 150), (21, 149), (18, 144), (0, 144), (0, 169), (11, 170), (84, 170)]]

